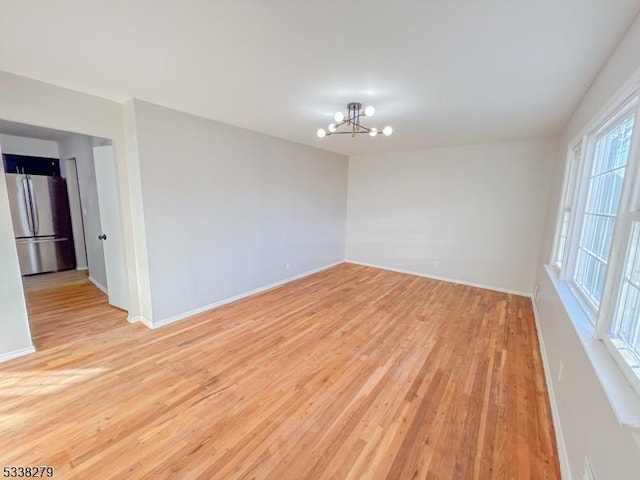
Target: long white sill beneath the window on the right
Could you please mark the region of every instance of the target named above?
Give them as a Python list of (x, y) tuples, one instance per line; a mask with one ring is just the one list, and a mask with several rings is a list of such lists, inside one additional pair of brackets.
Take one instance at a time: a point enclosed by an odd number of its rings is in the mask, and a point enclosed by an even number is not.
[(587, 357), (611, 404), (611, 408), (624, 428), (640, 434), (640, 397), (629, 384), (607, 347), (593, 336), (593, 325), (566, 282), (560, 280), (551, 265), (545, 270), (553, 284), (567, 316), (580, 338)]

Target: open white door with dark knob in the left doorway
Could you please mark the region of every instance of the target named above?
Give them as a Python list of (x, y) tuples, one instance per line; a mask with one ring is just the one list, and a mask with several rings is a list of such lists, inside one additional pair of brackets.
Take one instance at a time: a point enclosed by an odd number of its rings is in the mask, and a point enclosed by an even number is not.
[(109, 303), (114, 307), (128, 310), (129, 286), (113, 145), (93, 147), (93, 159), (96, 166), (96, 185), (102, 227), (102, 234), (99, 238), (104, 247)]

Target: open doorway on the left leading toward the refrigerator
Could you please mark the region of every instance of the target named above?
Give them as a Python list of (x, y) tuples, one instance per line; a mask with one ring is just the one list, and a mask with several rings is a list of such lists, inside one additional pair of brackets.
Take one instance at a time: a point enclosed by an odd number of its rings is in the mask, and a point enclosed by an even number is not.
[[(70, 338), (82, 336), (83, 329), (99, 327), (96, 319), (92, 322), (77, 320), (81, 316), (75, 313), (86, 309), (89, 304), (116, 306), (124, 310), (122, 318), (126, 321), (128, 282), (112, 142), (105, 138), (0, 120), (0, 147), (3, 181), (22, 185), (22, 189), (9, 192), (16, 245), (19, 241), (24, 243), (28, 240), (40, 245), (51, 240), (50, 244), (64, 244), (67, 253), (71, 251), (65, 262), (59, 262), (61, 253), (56, 247), (49, 248), (48, 253), (35, 249), (31, 256), (23, 254), (21, 257), (22, 252), (18, 254), (36, 348), (50, 347), (57, 342), (68, 344)], [(103, 153), (98, 169), (94, 148), (102, 149)], [(8, 165), (11, 163), (7, 162), (9, 156), (13, 156), (11, 162), (16, 158), (22, 162), (22, 168), (14, 171), (15, 165)], [(24, 162), (37, 158), (50, 160), (51, 170), (36, 172), (33, 166), (24, 168), (28, 165)], [(47, 195), (42, 195), (35, 191), (33, 185), (36, 183), (56, 183), (62, 187), (56, 189), (55, 194), (49, 190)], [(57, 199), (45, 205), (40, 199), (60, 197), (61, 192), (64, 192), (65, 201), (58, 202)], [(102, 211), (108, 215), (108, 227), (105, 219), (101, 218)], [(68, 219), (68, 235), (62, 228), (48, 232), (51, 235), (46, 238), (39, 236), (42, 230), (36, 229), (36, 222), (42, 225), (47, 219), (52, 219), (64, 224), (65, 218)], [(16, 225), (21, 222), (29, 226), (26, 233), (16, 232)], [(44, 265), (30, 270), (26, 268), (30, 258), (50, 258), (53, 263), (44, 262)]]

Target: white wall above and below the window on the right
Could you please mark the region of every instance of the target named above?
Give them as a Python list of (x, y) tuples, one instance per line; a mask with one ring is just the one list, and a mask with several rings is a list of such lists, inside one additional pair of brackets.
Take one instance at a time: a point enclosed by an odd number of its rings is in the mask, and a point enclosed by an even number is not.
[[(599, 110), (615, 98), (616, 92), (627, 79), (632, 75), (640, 78), (638, 52), (640, 17), (613, 52), (562, 133), (540, 265), (548, 263), (550, 258), (569, 142), (598, 115)], [(639, 478), (640, 448), (630, 430), (622, 427), (616, 419), (579, 336), (542, 267), (538, 271), (538, 283), (539, 334), (546, 347), (557, 413), (573, 478), (582, 478), (580, 474), (585, 457), (591, 459), (598, 479)], [(564, 364), (562, 382), (558, 380), (560, 361)]]

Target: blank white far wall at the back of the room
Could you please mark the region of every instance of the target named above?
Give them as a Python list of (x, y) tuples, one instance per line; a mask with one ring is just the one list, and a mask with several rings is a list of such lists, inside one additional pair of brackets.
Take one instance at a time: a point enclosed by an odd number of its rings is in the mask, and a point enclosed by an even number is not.
[(347, 260), (532, 292), (554, 152), (529, 141), (350, 157)]

